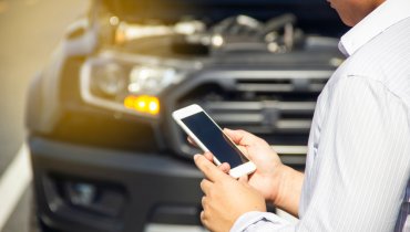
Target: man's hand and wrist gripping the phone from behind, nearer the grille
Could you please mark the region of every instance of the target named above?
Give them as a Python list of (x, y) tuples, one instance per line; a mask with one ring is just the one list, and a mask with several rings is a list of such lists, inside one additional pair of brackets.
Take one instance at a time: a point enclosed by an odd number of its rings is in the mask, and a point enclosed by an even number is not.
[[(304, 175), (281, 164), (275, 150), (262, 138), (244, 131), (224, 129), (224, 133), (256, 166), (249, 176), (248, 183), (276, 207), (298, 217), (299, 198)], [(204, 154), (209, 161), (213, 155)], [(229, 165), (222, 164), (219, 169), (229, 172)]]

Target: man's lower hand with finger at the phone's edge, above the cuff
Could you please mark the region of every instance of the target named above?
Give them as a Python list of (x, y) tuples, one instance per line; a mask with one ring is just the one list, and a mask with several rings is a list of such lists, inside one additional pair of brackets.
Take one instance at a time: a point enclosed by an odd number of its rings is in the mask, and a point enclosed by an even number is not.
[(242, 214), (266, 211), (265, 199), (247, 184), (246, 178), (232, 178), (204, 156), (196, 155), (194, 160), (206, 177), (201, 182), (204, 192), (201, 221), (208, 230), (226, 232)]

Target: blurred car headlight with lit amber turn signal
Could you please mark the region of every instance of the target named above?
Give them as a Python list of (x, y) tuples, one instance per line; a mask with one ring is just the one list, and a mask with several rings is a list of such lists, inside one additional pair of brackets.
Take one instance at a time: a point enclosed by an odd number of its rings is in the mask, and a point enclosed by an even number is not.
[(144, 59), (98, 56), (81, 70), (81, 96), (84, 102), (143, 117), (157, 117), (158, 96), (164, 88), (181, 82), (187, 71), (158, 65)]

